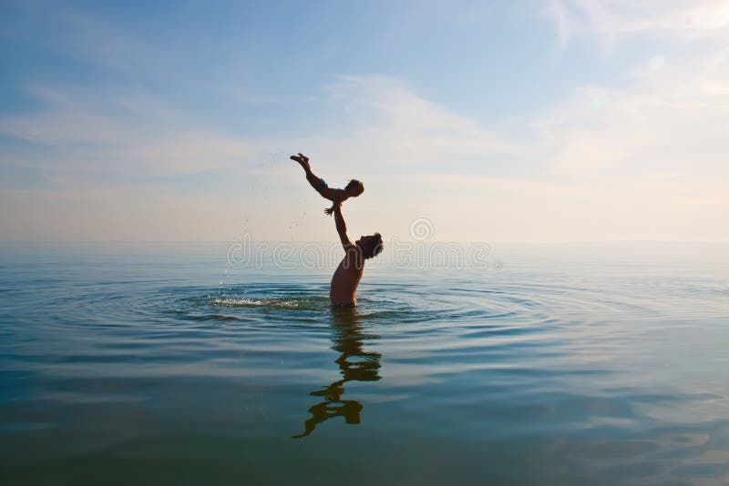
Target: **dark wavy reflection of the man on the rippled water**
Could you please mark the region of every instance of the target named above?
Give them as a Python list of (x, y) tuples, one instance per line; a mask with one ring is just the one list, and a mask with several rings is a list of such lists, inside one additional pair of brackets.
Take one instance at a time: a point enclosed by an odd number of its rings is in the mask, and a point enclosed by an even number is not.
[(358, 322), (357, 309), (332, 309), (334, 319), (334, 346), (332, 349), (342, 353), (336, 364), (344, 377), (334, 381), (323, 390), (312, 391), (314, 397), (322, 397), (309, 412), (312, 417), (303, 424), (304, 432), (294, 435), (293, 439), (306, 437), (323, 421), (334, 417), (344, 417), (346, 423), (360, 423), (362, 403), (357, 400), (342, 400), (344, 383), (347, 381), (376, 381), (380, 379), (377, 371), (380, 369), (379, 353), (365, 352), (362, 347), (365, 339), (379, 339), (374, 334), (364, 334)]

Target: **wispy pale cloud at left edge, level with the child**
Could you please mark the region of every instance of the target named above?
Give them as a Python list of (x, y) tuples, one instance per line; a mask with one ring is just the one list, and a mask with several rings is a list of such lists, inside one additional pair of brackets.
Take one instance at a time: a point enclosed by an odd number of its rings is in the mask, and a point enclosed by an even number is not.
[(145, 94), (33, 86), (43, 107), (0, 117), (0, 133), (53, 148), (46, 168), (104, 170), (152, 177), (244, 167), (261, 141), (226, 134)]

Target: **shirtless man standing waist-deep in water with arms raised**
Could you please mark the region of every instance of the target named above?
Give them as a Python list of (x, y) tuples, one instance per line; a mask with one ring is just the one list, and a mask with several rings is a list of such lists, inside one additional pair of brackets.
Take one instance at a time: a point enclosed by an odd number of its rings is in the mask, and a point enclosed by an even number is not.
[(344, 247), (344, 258), (334, 271), (329, 299), (333, 307), (354, 307), (357, 305), (357, 286), (362, 278), (364, 260), (380, 254), (383, 249), (379, 233), (360, 237), (352, 243), (347, 236), (347, 225), (342, 216), (342, 205), (334, 204), (334, 223)]

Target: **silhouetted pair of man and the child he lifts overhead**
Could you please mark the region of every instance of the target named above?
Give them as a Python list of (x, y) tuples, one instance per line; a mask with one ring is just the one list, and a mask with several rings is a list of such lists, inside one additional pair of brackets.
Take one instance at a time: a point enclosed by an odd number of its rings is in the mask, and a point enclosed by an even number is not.
[(362, 194), (364, 184), (352, 179), (344, 189), (328, 187), (322, 178), (313, 174), (312, 167), (309, 165), (309, 157), (299, 153), (291, 158), (301, 165), (306, 173), (306, 180), (314, 190), (323, 198), (332, 201), (332, 207), (324, 209), (324, 212), (328, 215), (334, 214), (336, 231), (339, 233), (339, 239), (344, 247), (344, 258), (339, 267), (334, 270), (329, 299), (335, 308), (354, 308), (357, 305), (357, 286), (362, 278), (364, 260), (376, 257), (383, 250), (382, 236), (379, 233), (362, 236), (354, 243), (347, 236), (347, 226), (342, 216), (342, 203), (350, 197)]

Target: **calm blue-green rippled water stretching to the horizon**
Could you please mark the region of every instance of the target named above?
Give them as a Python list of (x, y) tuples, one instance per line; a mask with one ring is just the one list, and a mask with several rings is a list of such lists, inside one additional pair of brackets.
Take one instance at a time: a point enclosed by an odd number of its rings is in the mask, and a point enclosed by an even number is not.
[(727, 245), (227, 248), (0, 246), (0, 483), (729, 483)]

